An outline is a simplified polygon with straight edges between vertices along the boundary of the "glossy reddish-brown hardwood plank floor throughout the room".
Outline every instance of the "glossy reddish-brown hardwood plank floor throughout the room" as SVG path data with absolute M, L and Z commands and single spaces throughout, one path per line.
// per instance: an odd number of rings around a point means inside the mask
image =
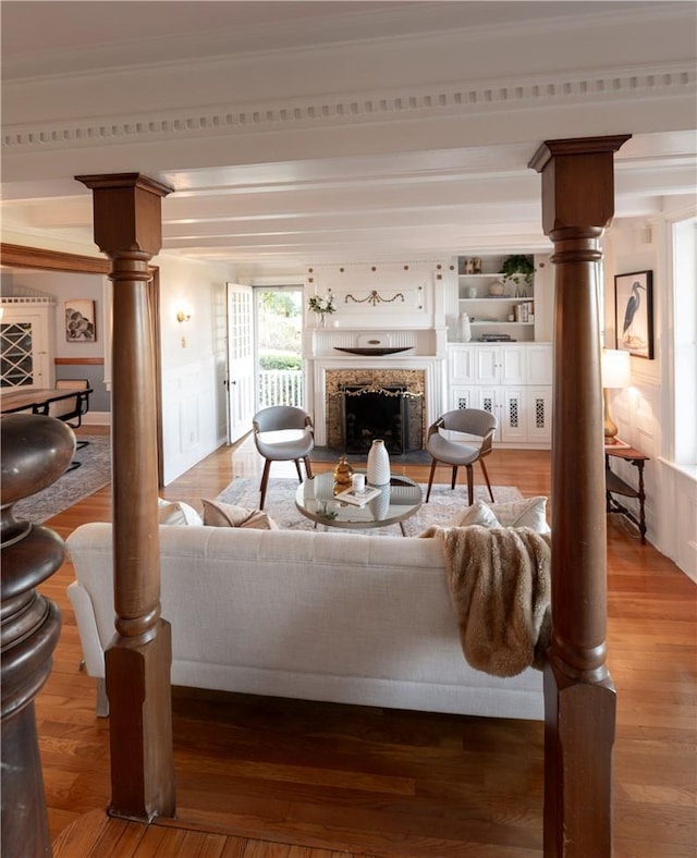
M 90 427 L 89 431 L 94 428 Z M 317 463 L 317 471 L 332 463 Z M 497 450 L 492 483 L 549 494 L 549 455 Z M 427 466 L 405 466 L 421 482 Z M 200 508 L 233 476 L 260 475 L 247 441 L 222 448 L 162 494 Z M 276 464 L 271 478 L 293 476 Z M 480 476 L 477 475 L 479 479 Z M 439 471 L 437 479 L 447 481 Z M 103 489 L 49 524 L 68 536 L 110 519 Z M 609 664 L 617 688 L 615 858 L 697 849 L 695 586 L 619 516 L 608 519 Z M 108 720 L 80 672 L 66 563 L 41 588 L 61 606 L 52 674 L 36 700 L 51 836 L 109 802 Z M 90 820 L 57 856 L 542 855 L 542 725 L 173 689 L 178 820 Z M 119 847 L 114 844 L 119 842 Z M 592 858 L 589 856 L 589 858 Z

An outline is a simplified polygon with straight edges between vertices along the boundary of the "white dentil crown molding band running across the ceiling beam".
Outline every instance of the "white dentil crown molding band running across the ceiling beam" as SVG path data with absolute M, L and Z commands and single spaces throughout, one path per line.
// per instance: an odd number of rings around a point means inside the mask
M 5 155 L 87 148 L 103 144 L 162 143 L 203 136 L 476 117 L 482 113 L 689 97 L 697 103 L 692 62 L 549 74 L 511 79 L 455 82 L 337 97 L 267 100 L 85 118 L 71 122 L 5 125 Z M 689 117 L 686 118 L 689 122 Z

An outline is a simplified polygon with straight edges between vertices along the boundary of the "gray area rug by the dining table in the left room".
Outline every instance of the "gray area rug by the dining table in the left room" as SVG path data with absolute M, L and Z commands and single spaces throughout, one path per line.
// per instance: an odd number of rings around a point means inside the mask
M 82 465 L 63 474 L 52 486 L 32 494 L 14 505 L 14 517 L 41 524 L 68 510 L 83 498 L 94 494 L 111 479 L 111 444 L 109 436 L 80 436 L 89 441 L 75 452 Z

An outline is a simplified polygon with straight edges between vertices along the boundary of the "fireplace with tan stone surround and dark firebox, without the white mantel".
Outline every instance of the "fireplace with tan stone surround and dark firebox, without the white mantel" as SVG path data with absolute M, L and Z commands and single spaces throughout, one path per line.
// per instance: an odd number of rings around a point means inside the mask
M 374 438 L 393 455 L 423 449 L 424 371 L 327 370 L 325 395 L 330 449 L 367 454 Z

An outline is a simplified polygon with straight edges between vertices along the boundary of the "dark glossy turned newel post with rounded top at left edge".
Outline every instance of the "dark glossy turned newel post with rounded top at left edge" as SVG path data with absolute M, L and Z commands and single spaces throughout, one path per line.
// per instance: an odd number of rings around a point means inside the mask
M 15 520 L 14 504 L 48 488 L 75 453 L 73 430 L 52 417 L 10 414 L 0 420 L 2 445 L 2 854 L 51 855 L 34 699 L 51 672 L 61 630 L 57 605 L 36 591 L 63 562 L 52 530 Z

